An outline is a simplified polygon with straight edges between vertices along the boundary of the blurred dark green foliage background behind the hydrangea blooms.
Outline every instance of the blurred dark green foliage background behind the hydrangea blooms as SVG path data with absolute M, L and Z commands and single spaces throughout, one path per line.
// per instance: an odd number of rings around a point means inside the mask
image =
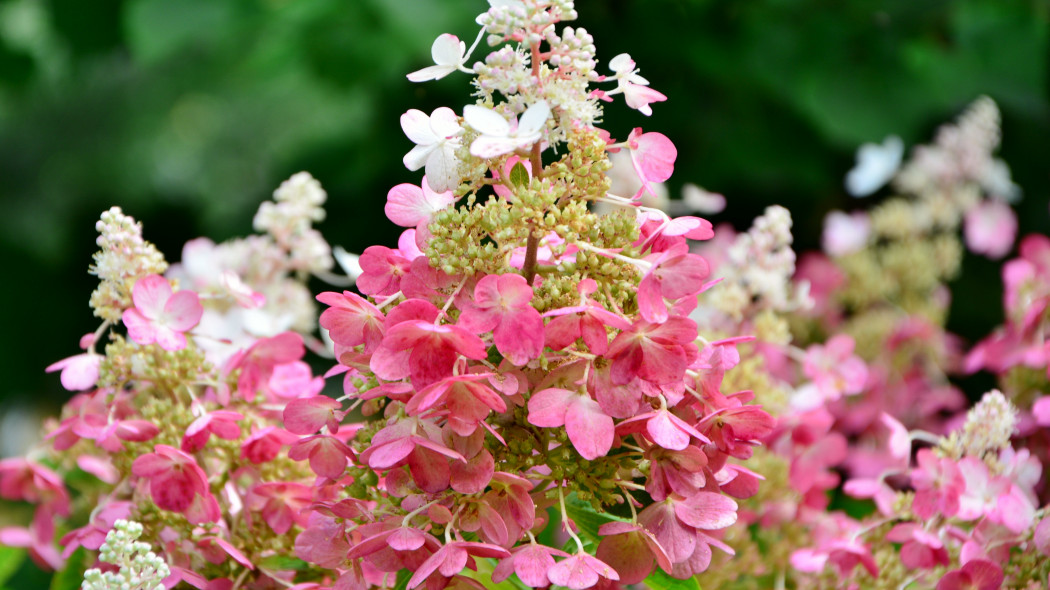
M 861 204 L 842 178 L 863 142 L 928 141 L 974 98 L 995 99 L 1002 155 L 1024 188 L 1024 231 L 1050 226 L 1045 0 L 581 0 L 598 58 L 629 51 L 666 93 L 646 119 L 607 107 L 614 136 L 644 126 L 738 228 L 772 203 L 818 244 L 828 209 Z M 418 182 L 401 156 L 408 108 L 468 100 L 467 77 L 422 85 L 441 33 L 472 40 L 483 0 L 0 0 L 0 415 L 67 398 L 50 362 L 97 322 L 93 222 L 111 205 L 169 259 L 198 235 L 251 231 L 258 203 L 309 170 L 321 226 L 360 252 L 392 244 L 386 191 Z M 482 54 L 476 54 L 481 58 Z M 972 260 L 953 319 L 999 320 L 996 267 Z M 971 291 L 972 289 L 972 291 Z M 960 319 L 961 318 L 961 319 Z M 4 422 L 7 428 L 12 421 Z M 9 431 L 8 431 L 9 435 Z M 9 438 L 9 437 L 8 437 Z

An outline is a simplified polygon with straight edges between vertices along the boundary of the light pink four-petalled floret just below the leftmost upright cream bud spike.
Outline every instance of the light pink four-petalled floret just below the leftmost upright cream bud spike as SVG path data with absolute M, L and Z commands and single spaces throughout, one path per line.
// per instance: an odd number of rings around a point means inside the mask
M 156 342 L 166 351 L 186 347 L 185 332 L 201 321 L 204 308 L 192 291 L 171 292 L 168 279 L 147 275 L 131 288 L 134 308 L 124 310 L 124 325 L 128 338 L 139 344 Z

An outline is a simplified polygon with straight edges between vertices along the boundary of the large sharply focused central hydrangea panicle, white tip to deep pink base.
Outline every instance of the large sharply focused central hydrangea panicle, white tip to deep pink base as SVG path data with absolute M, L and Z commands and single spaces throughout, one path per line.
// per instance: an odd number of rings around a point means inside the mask
M 633 584 L 657 565 L 689 577 L 727 549 L 715 531 L 757 486 L 739 461 L 772 427 L 719 391 L 708 374 L 727 366 L 705 359 L 732 343 L 705 342 L 688 317 L 709 287 L 688 240 L 711 225 L 639 204 L 673 170 L 670 140 L 593 125 L 598 100 L 624 93 L 643 112 L 663 100 L 630 58 L 597 75 L 586 31 L 556 30 L 570 2 L 492 4 L 479 23 L 499 48 L 475 66 L 478 103 L 402 117 L 405 165 L 426 175 L 387 195 L 408 228 L 398 248 L 362 253 L 363 296 L 318 296 L 343 396 L 295 400 L 285 424 L 324 485 L 378 485 L 315 499 L 297 554 L 331 567 L 339 539 L 340 583 L 357 586 L 402 568 L 408 588 L 458 584 L 478 557 L 497 561 L 495 582 L 531 587 Z M 410 79 L 459 69 L 463 45 L 440 37 L 437 65 Z M 633 194 L 610 192 L 617 151 Z M 595 215 L 598 202 L 617 210 Z M 356 408 L 380 419 L 343 445 Z M 608 522 L 586 530 L 582 513 Z

